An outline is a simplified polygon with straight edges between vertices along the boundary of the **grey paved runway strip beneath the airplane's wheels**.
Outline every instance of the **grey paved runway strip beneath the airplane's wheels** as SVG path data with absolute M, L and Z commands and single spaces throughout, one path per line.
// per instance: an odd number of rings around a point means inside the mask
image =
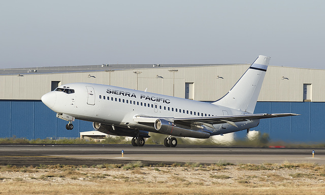
M 121 151 L 124 151 L 123 157 Z M 315 151 L 312 157 L 312 150 Z M 262 164 L 284 161 L 325 164 L 325 149 L 230 148 L 211 146 L 163 145 L 0 145 L 0 165 L 30 166 L 40 164 L 125 164 L 141 160 L 144 164 L 228 162 Z

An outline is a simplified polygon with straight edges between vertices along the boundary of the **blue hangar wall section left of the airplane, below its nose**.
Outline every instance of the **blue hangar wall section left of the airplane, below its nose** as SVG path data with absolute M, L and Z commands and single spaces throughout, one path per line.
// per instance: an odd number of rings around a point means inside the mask
M 67 121 L 56 118 L 41 101 L 0 101 L 0 117 L 1 138 L 78 138 L 80 132 L 93 129 L 91 122 L 75 120 L 68 131 Z

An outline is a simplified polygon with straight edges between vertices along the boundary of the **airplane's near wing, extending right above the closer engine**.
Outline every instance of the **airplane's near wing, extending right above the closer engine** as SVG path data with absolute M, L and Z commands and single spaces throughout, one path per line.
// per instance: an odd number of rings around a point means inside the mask
M 245 115 L 228 115 L 228 116 L 205 116 L 205 117 L 168 117 L 168 118 L 157 118 L 153 116 L 141 116 L 137 115 L 133 119 L 136 122 L 155 122 L 157 119 L 165 119 L 170 122 L 182 122 L 182 123 L 207 123 L 207 124 L 220 124 L 229 123 L 234 125 L 235 122 L 253 120 L 253 119 L 263 119 L 263 118 L 275 118 L 284 116 L 297 116 L 300 114 L 293 113 L 281 113 L 281 114 L 245 114 Z M 236 126 L 236 125 L 234 125 Z

